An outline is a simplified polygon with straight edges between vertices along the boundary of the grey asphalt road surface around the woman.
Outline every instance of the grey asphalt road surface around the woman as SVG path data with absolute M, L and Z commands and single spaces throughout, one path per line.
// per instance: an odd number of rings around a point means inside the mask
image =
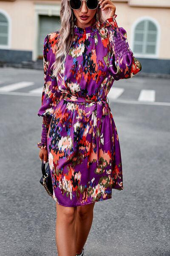
M 0 256 L 57 256 L 55 201 L 40 185 L 41 70 L 0 69 Z M 114 83 L 109 103 L 122 152 L 124 190 L 96 202 L 85 256 L 170 256 L 170 80 Z M 14 87 L 13 87 L 14 89 Z M 140 102 L 141 90 L 155 100 Z M 162 104 L 160 103 L 162 102 Z M 165 103 L 164 103 L 165 102 Z

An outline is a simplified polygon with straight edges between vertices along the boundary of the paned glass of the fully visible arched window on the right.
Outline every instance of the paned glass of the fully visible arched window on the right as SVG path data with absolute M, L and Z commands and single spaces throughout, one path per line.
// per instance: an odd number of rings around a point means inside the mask
M 133 51 L 140 55 L 156 55 L 158 29 L 149 19 L 139 21 L 134 29 Z

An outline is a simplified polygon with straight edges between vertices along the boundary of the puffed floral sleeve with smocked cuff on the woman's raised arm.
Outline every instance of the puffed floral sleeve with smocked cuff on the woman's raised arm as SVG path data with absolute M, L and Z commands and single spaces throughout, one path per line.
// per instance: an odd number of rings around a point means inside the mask
M 142 65 L 133 56 L 133 52 L 127 41 L 127 32 L 124 28 L 118 27 L 114 17 L 108 18 L 105 21 L 105 26 L 108 28 L 108 36 L 112 49 L 108 66 L 109 72 L 114 80 L 133 77 L 142 70 Z

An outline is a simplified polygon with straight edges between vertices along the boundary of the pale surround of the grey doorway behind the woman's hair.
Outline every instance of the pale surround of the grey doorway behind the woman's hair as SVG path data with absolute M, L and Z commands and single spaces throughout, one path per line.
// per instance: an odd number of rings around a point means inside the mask
M 34 29 L 34 49 L 32 60 L 36 61 L 38 56 L 38 35 L 39 35 L 39 15 L 48 15 L 48 16 L 60 16 L 61 4 L 35 4 L 34 6 L 34 19 L 35 19 L 35 29 Z

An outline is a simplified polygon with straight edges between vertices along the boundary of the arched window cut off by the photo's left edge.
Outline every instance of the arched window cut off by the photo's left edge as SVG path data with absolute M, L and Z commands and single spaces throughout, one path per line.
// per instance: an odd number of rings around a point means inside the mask
M 0 13 L 0 45 L 8 45 L 8 19 Z

